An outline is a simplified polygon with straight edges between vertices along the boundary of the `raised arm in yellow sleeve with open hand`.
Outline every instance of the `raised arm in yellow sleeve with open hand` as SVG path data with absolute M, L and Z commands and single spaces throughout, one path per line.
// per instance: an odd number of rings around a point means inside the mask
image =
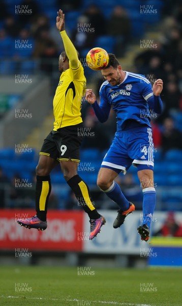
M 56 27 L 57 30 L 59 30 L 60 35 L 62 36 L 66 55 L 70 61 L 71 68 L 73 69 L 78 68 L 79 61 L 78 61 L 77 50 L 65 31 L 65 14 L 63 14 L 62 10 L 59 10 L 57 12 Z

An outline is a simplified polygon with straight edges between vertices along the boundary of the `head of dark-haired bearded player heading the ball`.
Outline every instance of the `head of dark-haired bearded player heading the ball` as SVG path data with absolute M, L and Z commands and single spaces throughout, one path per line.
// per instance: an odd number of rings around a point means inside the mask
M 109 53 L 109 63 L 101 72 L 111 86 L 121 83 L 125 78 L 125 72 L 122 70 L 122 66 L 120 66 L 115 55 L 112 53 Z

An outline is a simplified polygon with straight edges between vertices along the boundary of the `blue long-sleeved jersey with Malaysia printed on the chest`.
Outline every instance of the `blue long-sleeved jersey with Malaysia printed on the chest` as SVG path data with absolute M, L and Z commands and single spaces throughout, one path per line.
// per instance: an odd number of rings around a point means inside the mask
M 150 82 L 141 74 L 126 72 L 122 83 L 111 86 L 105 81 L 100 88 L 100 105 L 93 104 L 96 116 L 105 122 L 111 107 L 116 112 L 117 131 L 147 125 L 150 114 L 162 112 L 162 101 L 155 96 Z

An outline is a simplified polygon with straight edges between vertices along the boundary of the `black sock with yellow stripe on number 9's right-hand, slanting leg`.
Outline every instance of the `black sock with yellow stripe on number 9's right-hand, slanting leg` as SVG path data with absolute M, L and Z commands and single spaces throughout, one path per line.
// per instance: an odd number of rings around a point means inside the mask
M 93 205 L 92 198 L 90 196 L 89 188 L 81 177 L 77 174 L 73 176 L 68 182 L 68 185 L 75 193 L 78 202 L 83 207 L 85 213 L 88 214 L 90 219 L 98 219 L 100 214 L 97 212 Z

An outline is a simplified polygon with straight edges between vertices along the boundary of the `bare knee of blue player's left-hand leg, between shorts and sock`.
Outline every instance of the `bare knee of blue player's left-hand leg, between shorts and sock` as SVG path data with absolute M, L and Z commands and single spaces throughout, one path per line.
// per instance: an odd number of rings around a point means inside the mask
M 102 185 L 111 184 L 117 175 L 118 173 L 113 169 L 102 167 L 98 173 L 97 185 L 101 187 Z

